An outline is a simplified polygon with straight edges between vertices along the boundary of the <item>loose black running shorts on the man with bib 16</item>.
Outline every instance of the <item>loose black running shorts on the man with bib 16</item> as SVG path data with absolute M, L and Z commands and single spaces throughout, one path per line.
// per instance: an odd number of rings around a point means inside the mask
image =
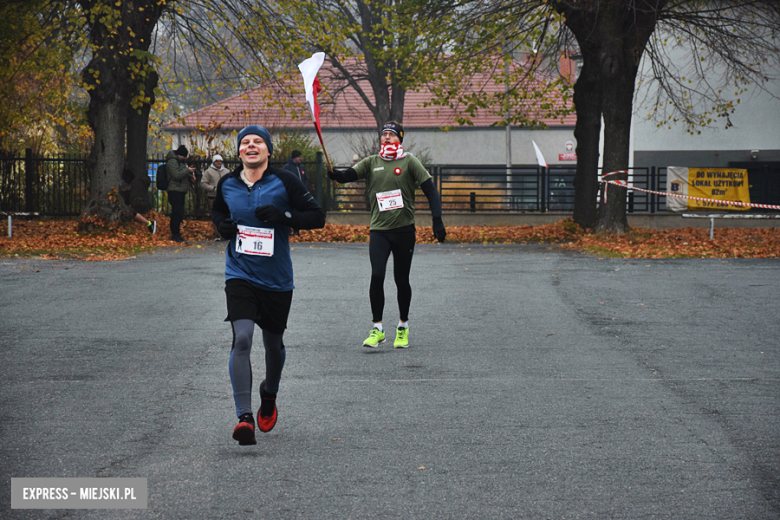
M 252 320 L 268 332 L 283 334 L 292 305 L 292 291 L 268 291 L 247 280 L 225 282 L 228 316 L 225 321 Z

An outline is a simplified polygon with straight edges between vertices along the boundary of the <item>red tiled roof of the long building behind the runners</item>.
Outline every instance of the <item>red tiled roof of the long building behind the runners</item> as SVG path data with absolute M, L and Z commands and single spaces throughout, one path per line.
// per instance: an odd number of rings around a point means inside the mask
M 515 67 L 519 67 L 514 62 Z M 320 70 L 320 81 L 323 87 L 328 89 L 329 82 L 327 63 Z M 503 75 L 498 73 L 497 77 Z M 296 78 L 298 80 L 298 78 Z M 335 81 L 333 82 L 335 84 Z M 541 85 L 536 83 L 536 85 Z M 470 92 L 484 91 L 487 93 L 499 93 L 504 91 L 502 83 L 496 83 L 488 74 L 472 77 Z M 373 93 L 367 81 L 361 82 L 361 87 L 366 95 L 374 101 Z M 303 85 L 293 85 L 293 88 L 303 90 Z M 335 89 L 334 89 L 335 90 Z M 407 91 L 404 103 L 403 124 L 409 128 L 440 128 L 460 126 L 457 117 L 464 113 L 459 107 L 423 106 L 430 101 L 432 94 L 429 89 L 423 87 L 418 91 Z M 556 106 L 563 106 L 560 98 L 553 99 L 543 96 L 542 100 L 552 100 Z M 322 112 L 320 122 L 323 130 L 334 129 L 375 129 L 376 122 L 371 111 L 358 92 L 346 86 L 341 92 L 332 98 L 327 92 L 320 94 L 319 100 Z M 539 101 L 525 101 L 528 112 L 533 113 Z M 537 105 L 535 105 L 535 103 Z M 282 108 L 287 105 L 287 108 Z M 571 107 L 571 99 L 566 101 Z M 539 114 L 541 112 L 537 112 Z M 492 126 L 499 121 L 500 116 L 491 113 L 489 109 L 478 110 L 471 117 L 474 127 Z M 576 115 L 571 114 L 557 119 L 540 117 L 547 126 L 573 126 Z M 172 121 L 163 125 L 169 131 L 192 130 L 196 128 L 221 128 L 222 130 L 241 129 L 249 124 L 263 124 L 271 129 L 312 127 L 311 116 L 305 108 L 305 100 L 302 92 L 290 96 L 279 85 L 266 84 L 251 88 L 241 94 L 226 98 L 222 101 L 191 112 L 183 117 L 182 121 Z

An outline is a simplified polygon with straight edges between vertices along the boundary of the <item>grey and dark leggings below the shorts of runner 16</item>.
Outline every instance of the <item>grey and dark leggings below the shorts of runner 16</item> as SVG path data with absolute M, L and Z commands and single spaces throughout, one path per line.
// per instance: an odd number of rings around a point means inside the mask
M 252 336 L 255 322 L 252 320 L 236 320 L 233 326 L 233 348 L 230 350 L 228 370 L 230 383 L 233 385 L 233 400 L 236 403 L 236 415 L 252 413 L 252 363 L 249 354 L 252 351 Z M 279 381 L 282 379 L 282 368 L 287 352 L 282 342 L 282 334 L 274 334 L 263 329 L 263 345 L 265 346 L 265 390 L 270 394 L 279 391 Z

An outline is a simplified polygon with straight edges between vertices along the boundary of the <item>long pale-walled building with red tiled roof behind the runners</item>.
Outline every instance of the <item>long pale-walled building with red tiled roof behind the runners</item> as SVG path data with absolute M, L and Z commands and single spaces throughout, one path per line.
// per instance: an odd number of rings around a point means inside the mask
M 483 83 L 486 90 L 498 90 L 487 77 L 475 83 Z M 366 89 L 370 92 L 370 89 Z M 232 140 L 237 132 L 246 125 L 259 124 L 267 127 L 272 134 L 290 131 L 309 133 L 317 142 L 311 116 L 304 108 L 304 96 L 291 99 L 285 94 L 273 94 L 268 99 L 269 90 L 256 87 L 223 101 L 209 105 L 186 115 L 183 123 L 174 121 L 163 126 L 172 134 L 173 147 L 185 144 L 191 149 L 203 149 L 209 153 L 220 152 L 223 155 L 235 154 Z M 480 111 L 473 118 L 473 126 L 458 126 L 457 109 L 444 107 L 424 107 L 431 98 L 430 92 L 407 92 L 404 107 L 406 131 L 404 145 L 413 153 L 425 152 L 432 164 L 466 165 L 505 165 L 507 159 L 507 132 L 505 126 L 492 126 L 498 116 Z M 279 100 L 286 101 L 291 108 L 282 109 Z M 321 101 L 320 116 L 325 148 L 334 164 L 349 165 L 354 156 L 365 155 L 365 149 L 371 149 L 366 143 L 374 143 L 377 153 L 379 137 L 376 122 L 357 92 L 346 89 L 335 99 Z M 559 103 L 563 105 L 562 102 Z M 569 101 L 568 106 L 571 107 Z M 536 108 L 529 103 L 527 110 L 533 113 Z M 536 141 L 549 164 L 576 164 L 574 152 L 574 123 L 572 113 L 559 119 L 539 118 L 546 129 L 531 130 L 513 126 L 510 129 L 512 164 L 536 164 L 531 141 Z M 206 137 L 205 129 L 211 128 Z M 449 131 L 442 128 L 451 128 Z M 216 138 L 214 138 L 216 137 Z M 283 158 L 279 158 L 283 159 Z

